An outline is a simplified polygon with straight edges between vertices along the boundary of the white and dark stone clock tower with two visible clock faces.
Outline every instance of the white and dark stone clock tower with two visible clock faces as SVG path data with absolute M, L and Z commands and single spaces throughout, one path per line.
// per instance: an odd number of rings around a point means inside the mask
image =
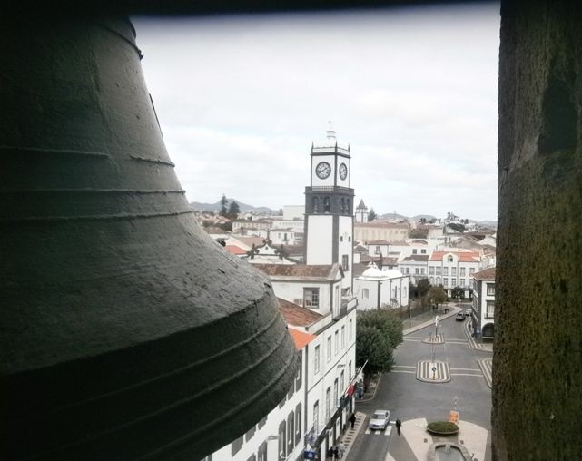
M 353 199 L 350 146 L 328 130 L 324 142 L 311 145 L 311 185 L 305 188 L 305 262 L 338 262 L 343 289 L 351 291 Z

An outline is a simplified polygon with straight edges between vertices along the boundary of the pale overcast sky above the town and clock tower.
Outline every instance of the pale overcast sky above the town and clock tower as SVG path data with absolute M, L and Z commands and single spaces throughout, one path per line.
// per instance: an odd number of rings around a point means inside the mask
M 498 4 L 133 24 L 189 201 L 303 204 L 331 121 L 356 203 L 497 219 Z

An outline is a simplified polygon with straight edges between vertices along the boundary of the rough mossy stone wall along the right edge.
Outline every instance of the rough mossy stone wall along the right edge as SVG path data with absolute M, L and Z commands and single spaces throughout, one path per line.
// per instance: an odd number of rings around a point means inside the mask
M 502 2 L 493 459 L 580 459 L 582 14 Z

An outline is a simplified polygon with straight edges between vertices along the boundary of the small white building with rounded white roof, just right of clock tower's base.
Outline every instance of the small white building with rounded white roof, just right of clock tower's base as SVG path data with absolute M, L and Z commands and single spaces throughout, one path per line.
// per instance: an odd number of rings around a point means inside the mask
M 409 303 L 409 276 L 399 270 L 379 270 L 375 265 L 354 279 L 358 309 L 398 308 Z

